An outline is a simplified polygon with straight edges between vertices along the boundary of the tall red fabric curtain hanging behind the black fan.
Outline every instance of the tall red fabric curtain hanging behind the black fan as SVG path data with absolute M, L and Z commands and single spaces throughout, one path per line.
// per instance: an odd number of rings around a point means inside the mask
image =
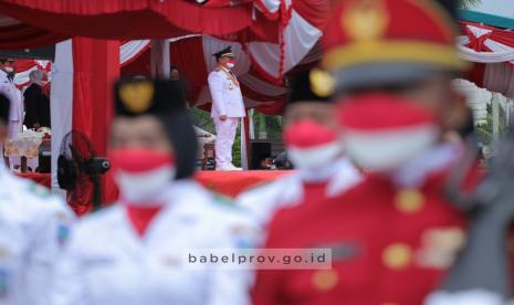
M 105 156 L 113 117 L 114 81 L 119 77 L 119 42 L 78 38 L 73 40 L 73 129 L 91 139 Z M 116 198 L 109 176 L 102 183 L 104 202 Z M 87 209 L 77 211 L 82 214 Z

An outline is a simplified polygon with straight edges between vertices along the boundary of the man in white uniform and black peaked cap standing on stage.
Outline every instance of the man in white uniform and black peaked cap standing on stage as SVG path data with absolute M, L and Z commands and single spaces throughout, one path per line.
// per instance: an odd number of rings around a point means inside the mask
M 232 145 L 238 122 L 244 117 L 244 103 L 238 77 L 232 72 L 235 65 L 230 46 L 214 53 L 218 66 L 209 74 L 212 97 L 211 117 L 216 126 L 216 169 L 241 170 L 232 164 Z

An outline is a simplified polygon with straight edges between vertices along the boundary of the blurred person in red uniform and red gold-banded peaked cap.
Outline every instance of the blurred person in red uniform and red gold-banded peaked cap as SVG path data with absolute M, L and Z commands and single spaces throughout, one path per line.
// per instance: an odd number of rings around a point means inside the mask
M 266 248 L 329 248 L 333 269 L 262 271 L 254 304 L 413 305 L 438 288 L 466 223 L 443 192 L 464 152 L 442 140 L 462 128 L 450 119 L 461 109 L 451 80 L 466 66 L 454 12 L 447 0 L 340 1 L 323 65 L 345 151 L 369 176 L 276 215 Z

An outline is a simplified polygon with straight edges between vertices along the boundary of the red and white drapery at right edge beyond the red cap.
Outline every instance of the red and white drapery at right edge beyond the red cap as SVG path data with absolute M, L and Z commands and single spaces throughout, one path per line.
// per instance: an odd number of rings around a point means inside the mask
M 475 63 L 469 78 L 478 86 L 514 98 L 514 32 L 464 22 L 458 48 Z

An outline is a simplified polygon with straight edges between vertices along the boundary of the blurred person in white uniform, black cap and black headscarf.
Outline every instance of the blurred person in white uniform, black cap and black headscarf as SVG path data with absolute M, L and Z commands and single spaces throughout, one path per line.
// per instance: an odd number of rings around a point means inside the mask
M 238 240 L 218 199 L 192 180 L 197 141 L 180 82 L 122 81 L 115 95 L 108 154 L 119 200 L 72 231 L 53 304 L 246 304 L 244 274 L 182 261 Z

